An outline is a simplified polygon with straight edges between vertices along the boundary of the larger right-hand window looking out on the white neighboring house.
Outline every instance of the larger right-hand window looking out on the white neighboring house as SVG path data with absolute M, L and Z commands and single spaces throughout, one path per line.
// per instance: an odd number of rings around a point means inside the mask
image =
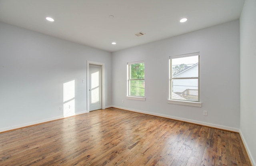
M 199 52 L 170 56 L 170 100 L 200 101 L 199 57 Z

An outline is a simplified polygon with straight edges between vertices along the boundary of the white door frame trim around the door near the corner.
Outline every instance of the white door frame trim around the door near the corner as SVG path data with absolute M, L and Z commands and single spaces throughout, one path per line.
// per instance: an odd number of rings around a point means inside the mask
M 99 65 L 101 66 L 101 109 L 105 109 L 105 106 L 104 106 L 104 103 L 105 103 L 105 100 L 104 100 L 104 83 L 105 83 L 105 63 L 101 63 L 101 62 L 95 62 L 95 61 L 87 61 L 87 75 L 86 75 L 86 83 L 87 83 L 87 89 L 86 89 L 86 94 L 87 94 L 87 111 L 90 112 L 90 93 L 89 93 L 89 81 L 90 81 L 90 78 L 89 78 L 89 70 L 90 70 L 90 65 Z

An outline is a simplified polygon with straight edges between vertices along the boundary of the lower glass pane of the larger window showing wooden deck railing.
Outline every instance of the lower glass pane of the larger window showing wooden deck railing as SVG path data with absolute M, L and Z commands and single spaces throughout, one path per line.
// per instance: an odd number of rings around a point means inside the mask
M 198 101 L 198 79 L 173 79 L 171 99 Z

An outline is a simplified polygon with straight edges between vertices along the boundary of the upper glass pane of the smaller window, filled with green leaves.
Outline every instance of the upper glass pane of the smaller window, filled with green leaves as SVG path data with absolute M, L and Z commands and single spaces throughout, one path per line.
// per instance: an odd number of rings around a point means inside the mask
M 130 79 L 144 79 L 144 63 L 130 64 Z

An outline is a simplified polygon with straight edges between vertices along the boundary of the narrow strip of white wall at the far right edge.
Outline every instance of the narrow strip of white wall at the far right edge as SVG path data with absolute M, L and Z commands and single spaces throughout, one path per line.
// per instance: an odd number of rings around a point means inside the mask
M 256 166 L 256 0 L 246 0 L 240 16 L 240 130 Z

